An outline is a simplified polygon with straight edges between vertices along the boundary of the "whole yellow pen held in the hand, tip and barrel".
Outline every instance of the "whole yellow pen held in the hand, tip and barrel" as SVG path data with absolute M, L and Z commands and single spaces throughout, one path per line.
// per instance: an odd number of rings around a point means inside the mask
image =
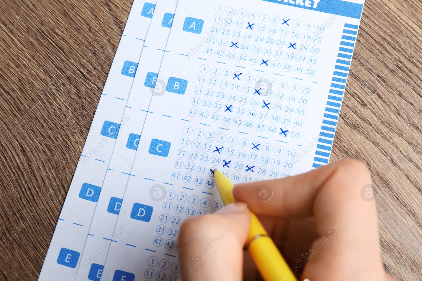
M 216 169 L 214 170 L 214 178 L 223 204 L 227 205 L 235 202 L 233 183 Z M 268 236 L 257 216 L 252 212 L 246 247 L 265 281 L 298 281 L 281 256 L 276 244 Z

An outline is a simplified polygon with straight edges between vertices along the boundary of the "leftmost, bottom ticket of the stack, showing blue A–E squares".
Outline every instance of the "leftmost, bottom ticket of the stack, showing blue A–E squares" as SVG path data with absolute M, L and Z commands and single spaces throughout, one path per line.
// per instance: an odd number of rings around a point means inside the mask
M 135 1 L 38 280 L 72 280 L 119 133 L 154 1 Z M 98 38 L 98 40 L 102 40 Z M 124 120 L 124 119 L 123 119 Z M 120 126 L 122 127 L 122 126 Z

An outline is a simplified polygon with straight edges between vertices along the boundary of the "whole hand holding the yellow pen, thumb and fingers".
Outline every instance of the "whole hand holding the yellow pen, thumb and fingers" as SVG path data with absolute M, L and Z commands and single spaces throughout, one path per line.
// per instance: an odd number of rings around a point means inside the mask
M 250 209 L 298 280 L 395 281 L 382 266 L 375 201 L 361 197 L 371 183 L 364 164 L 344 159 L 293 177 L 236 185 L 238 202 L 182 224 L 181 280 L 262 280 L 243 249 Z M 265 202 L 255 195 L 262 185 L 272 191 Z

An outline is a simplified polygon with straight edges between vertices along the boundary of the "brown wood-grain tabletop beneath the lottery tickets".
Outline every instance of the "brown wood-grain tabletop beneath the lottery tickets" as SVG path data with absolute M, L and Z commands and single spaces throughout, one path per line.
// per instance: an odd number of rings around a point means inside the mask
M 38 278 L 132 5 L 32 1 L 0 0 L 1 280 Z M 420 1 L 366 1 L 331 156 L 368 165 L 379 190 L 384 267 L 415 281 L 422 279 L 421 19 Z

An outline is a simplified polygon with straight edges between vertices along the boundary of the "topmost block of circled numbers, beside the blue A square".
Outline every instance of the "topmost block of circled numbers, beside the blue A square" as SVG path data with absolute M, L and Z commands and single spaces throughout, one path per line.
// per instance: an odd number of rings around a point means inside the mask
M 222 5 L 217 5 L 216 10 L 224 11 L 223 8 Z M 249 64 L 260 67 L 272 67 L 274 70 L 294 71 L 298 75 L 314 75 L 315 70 L 312 66 L 317 64 L 317 54 L 320 52 L 319 45 L 315 44 L 322 42 L 320 35 L 324 29 L 322 24 L 318 24 L 316 28 L 319 31 L 311 35 L 309 32 L 288 29 L 292 26 L 311 30 L 313 28 L 311 22 L 303 24 L 298 19 L 281 19 L 277 15 L 270 17 L 268 14 L 262 13 L 259 16 L 260 21 L 269 21 L 267 24 L 285 26 L 271 25 L 267 27 L 263 22 L 255 23 L 241 18 L 234 19 L 229 9 L 234 9 L 234 7 L 227 8 L 226 17 L 223 17 L 222 14 L 213 17 L 213 21 L 217 25 L 210 28 L 213 35 L 208 37 L 208 46 L 204 49 L 206 55 L 215 55 L 217 58 L 225 57 L 229 60 L 235 59 L 241 64 L 249 62 Z M 246 15 L 246 11 L 243 13 Z M 252 11 L 249 14 L 250 18 L 256 19 L 258 13 Z M 299 42 L 300 40 L 302 42 Z

